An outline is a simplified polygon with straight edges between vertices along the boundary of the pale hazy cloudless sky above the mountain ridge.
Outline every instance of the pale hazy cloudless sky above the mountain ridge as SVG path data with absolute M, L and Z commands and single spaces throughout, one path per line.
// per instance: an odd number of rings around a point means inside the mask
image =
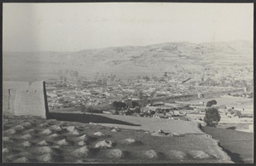
M 3 3 L 3 51 L 253 42 L 253 3 Z

